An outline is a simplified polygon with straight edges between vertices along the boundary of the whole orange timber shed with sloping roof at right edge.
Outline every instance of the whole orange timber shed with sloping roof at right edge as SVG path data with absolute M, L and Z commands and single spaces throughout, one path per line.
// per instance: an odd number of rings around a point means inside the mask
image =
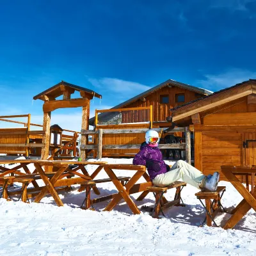
M 220 172 L 221 165 L 256 164 L 256 80 L 174 108 L 172 122 L 190 125 L 195 167 L 206 175 Z

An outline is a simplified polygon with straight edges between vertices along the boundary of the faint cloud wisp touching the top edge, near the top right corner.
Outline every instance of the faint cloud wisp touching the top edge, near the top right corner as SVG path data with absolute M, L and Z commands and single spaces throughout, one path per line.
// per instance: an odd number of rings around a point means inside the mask
M 248 11 L 248 3 L 255 2 L 255 0 L 214 0 L 211 8 L 226 8 L 232 12 L 234 11 Z

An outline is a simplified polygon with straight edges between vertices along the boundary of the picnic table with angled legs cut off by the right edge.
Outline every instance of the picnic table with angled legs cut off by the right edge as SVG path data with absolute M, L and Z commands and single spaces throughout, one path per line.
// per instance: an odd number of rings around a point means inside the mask
M 221 166 L 221 172 L 228 181 L 237 189 L 237 191 L 243 196 L 243 200 L 237 205 L 237 207 L 231 212 L 232 217 L 225 223 L 224 229 L 233 228 L 243 216 L 253 208 L 256 211 L 256 186 L 254 186 L 254 175 L 256 173 L 256 166 Z M 246 176 L 246 188 L 241 181 L 237 179 L 236 175 Z M 248 177 L 251 176 L 252 191 L 250 193 Z

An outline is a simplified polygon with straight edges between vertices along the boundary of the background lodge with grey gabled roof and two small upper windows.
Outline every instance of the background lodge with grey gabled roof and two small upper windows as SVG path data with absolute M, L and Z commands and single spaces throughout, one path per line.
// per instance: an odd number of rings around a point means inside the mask
M 211 93 L 212 92 L 202 88 L 168 79 L 164 83 L 158 84 L 157 86 L 154 86 L 153 88 L 118 104 L 112 109 L 142 108 L 149 107 L 151 105 L 153 110 L 153 126 L 169 127 L 170 123 L 166 122 L 166 117 L 172 114 L 170 109 L 182 106 L 191 100 L 201 99 Z M 98 116 L 97 124 L 95 124 L 95 117 L 90 118 L 89 124 L 92 126 L 100 125 L 100 120 L 108 123 L 108 120 L 112 117 L 113 115 L 110 113 L 105 115 L 102 113 Z M 148 121 L 149 115 L 147 111 L 145 111 L 145 113 L 141 111 L 141 115 L 136 115 L 136 113 L 132 115 L 132 113 L 127 111 L 126 115 L 122 116 L 122 124 Z

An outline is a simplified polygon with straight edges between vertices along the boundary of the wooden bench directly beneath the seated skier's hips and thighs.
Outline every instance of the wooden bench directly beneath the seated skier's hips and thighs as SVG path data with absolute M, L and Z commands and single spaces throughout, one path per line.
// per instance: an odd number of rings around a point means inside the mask
M 170 208 L 173 205 L 175 206 L 186 206 L 183 204 L 182 198 L 180 196 L 180 193 L 182 191 L 182 189 L 184 188 L 184 186 L 186 186 L 186 182 L 183 181 L 175 181 L 172 184 L 170 184 L 170 186 L 166 186 L 166 187 L 157 187 L 157 186 L 150 186 L 147 187 L 149 192 L 154 193 L 154 196 L 156 198 L 156 203 L 154 205 L 154 208 L 152 207 L 143 207 L 144 209 L 152 212 L 152 217 L 153 218 L 158 218 L 160 211 L 162 212 L 163 216 L 164 216 L 164 209 Z M 174 200 L 168 202 L 164 197 L 164 193 L 167 192 L 168 189 L 172 189 L 172 188 L 176 188 L 176 192 L 175 192 L 175 196 L 174 196 Z M 182 202 L 182 204 L 180 204 L 180 201 Z

